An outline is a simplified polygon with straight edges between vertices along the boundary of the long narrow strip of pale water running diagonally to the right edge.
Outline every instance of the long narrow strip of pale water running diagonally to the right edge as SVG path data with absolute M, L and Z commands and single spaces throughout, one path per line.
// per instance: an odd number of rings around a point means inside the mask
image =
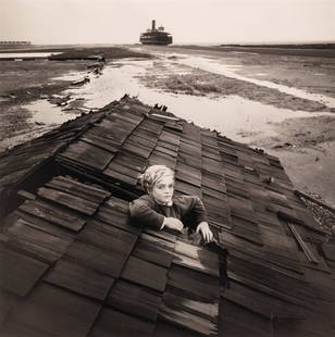
M 283 85 L 277 85 L 269 80 L 263 80 L 263 79 L 256 79 L 256 78 L 249 78 L 239 74 L 235 73 L 235 70 L 238 70 L 240 66 L 232 67 L 232 65 L 226 65 L 223 63 L 218 62 L 218 60 L 212 60 L 208 58 L 201 58 L 201 57 L 189 57 L 189 58 L 184 58 L 182 60 L 177 60 L 176 62 L 186 64 L 188 66 L 193 67 L 199 67 L 203 71 L 211 72 L 214 74 L 220 74 L 224 75 L 226 77 L 252 83 L 255 85 L 261 86 L 261 87 L 266 87 L 271 89 L 277 89 L 281 92 L 291 95 L 298 98 L 302 99 L 308 99 L 311 101 L 315 101 L 319 103 L 322 103 L 328 108 L 335 108 L 335 98 L 327 97 L 324 95 L 319 95 L 319 93 L 310 93 L 301 89 L 297 88 L 291 88 Z

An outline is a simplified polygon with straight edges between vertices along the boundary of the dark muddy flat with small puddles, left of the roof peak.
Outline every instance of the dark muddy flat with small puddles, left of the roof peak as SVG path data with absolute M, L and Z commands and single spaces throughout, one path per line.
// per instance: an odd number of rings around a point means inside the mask
M 28 61 L 3 61 L 1 55 L 42 55 L 53 53 L 57 60 L 46 58 Z M 57 125 L 85 112 L 78 101 L 69 107 L 64 90 L 76 79 L 85 78 L 96 68 L 97 55 L 110 64 L 122 58 L 148 55 L 120 47 L 97 46 L 32 46 L 22 50 L 0 51 L 0 152 L 5 148 L 37 137 Z M 92 60 L 89 58 L 92 57 Z M 92 74 L 96 76 L 97 74 Z M 69 97 L 69 101 L 70 101 Z M 48 104 L 51 100 L 54 104 Z M 67 108 L 67 109 L 66 109 Z M 70 109 L 69 109 L 70 108 Z M 37 111 L 44 113 L 37 114 Z

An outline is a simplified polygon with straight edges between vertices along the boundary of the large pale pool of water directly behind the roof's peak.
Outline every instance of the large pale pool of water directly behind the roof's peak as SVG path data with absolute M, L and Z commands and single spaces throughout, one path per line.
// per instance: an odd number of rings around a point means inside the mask
M 84 97 L 86 107 L 102 108 L 112 100 L 119 100 L 124 93 L 136 96 L 142 102 L 154 105 L 165 104 L 169 111 L 181 118 L 216 129 L 223 135 L 239 141 L 249 141 L 249 134 L 265 133 L 273 135 L 270 122 L 282 122 L 289 117 L 321 115 L 303 111 L 291 111 L 246 100 L 238 96 L 220 99 L 189 95 L 174 95 L 158 89 L 146 88 L 139 84 L 138 76 L 152 68 L 154 61 L 122 62 L 121 67 L 106 66 L 103 74 L 91 78 L 90 83 L 70 89 L 74 97 Z M 332 115 L 332 114 L 331 114 Z M 248 132 L 246 134 L 245 132 Z

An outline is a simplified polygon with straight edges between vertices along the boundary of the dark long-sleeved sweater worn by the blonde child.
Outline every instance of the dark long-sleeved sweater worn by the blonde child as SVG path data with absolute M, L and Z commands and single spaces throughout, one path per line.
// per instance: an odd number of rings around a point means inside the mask
M 156 229 L 162 227 L 164 216 L 176 217 L 191 228 L 208 221 L 200 198 L 194 196 L 175 197 L 172 205 L 161 205 L 151 196 L 145 195 L 129 203 L 129 213 L 135 224 Z

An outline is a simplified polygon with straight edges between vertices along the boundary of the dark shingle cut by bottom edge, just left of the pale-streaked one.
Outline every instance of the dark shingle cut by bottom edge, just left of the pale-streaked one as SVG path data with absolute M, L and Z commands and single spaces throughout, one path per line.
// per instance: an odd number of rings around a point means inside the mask
M 154 324 L 116 310 L 103 309 L 91 335 L 95 337 L 148 337 L 152 336 Z

